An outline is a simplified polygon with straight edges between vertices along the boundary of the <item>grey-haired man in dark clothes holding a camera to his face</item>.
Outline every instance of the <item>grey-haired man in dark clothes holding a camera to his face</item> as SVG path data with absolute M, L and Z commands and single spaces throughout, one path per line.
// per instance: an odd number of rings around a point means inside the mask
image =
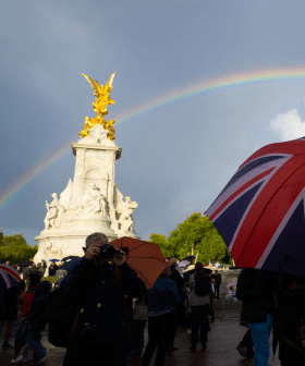
M 64 298 L 80 303 L 63 365 L 126 365 L 124 295 L 141 297 L 144 282 L 105 234 L 89 235 L 83 249 L 84 258 L 60 286 Z

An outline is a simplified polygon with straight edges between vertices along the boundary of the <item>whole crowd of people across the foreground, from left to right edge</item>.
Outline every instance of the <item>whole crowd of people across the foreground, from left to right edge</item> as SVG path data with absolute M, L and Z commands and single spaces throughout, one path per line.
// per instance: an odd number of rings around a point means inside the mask
M 196 352 L 198 344 L 200 351 L 208 350 L 209 321 L 215 320 L 213 298 L 219 300 L 220 273 L 202 263 L 182 273 L 175 258 L 168 258 L 168 266 L 147 289 L 126 263 L 125 252 L 112 247 L 115 254 L 110 259 L 106 255 L 109 247 L 105 234 L 89 235 L 84 257 L 68 270 L 59 288 L 52 292 L 50 282 L 41 281 L 35 264 L 20 269 L 24 276 L 20 284 L 5 290 L 3 281 L 0 281 L 0 331 L 7 326 L 2 349 L 13 347 L 9 340 L 13 321 L 17 318 L 17 304 L 22 305 L 21 320 L 28 327 L 26 346 L 12 363 L 28 361 L 29 350 L 34 364 L 40 364 L 48 356 L 40 332 L 48 321 L 48 304 L 49 310 L 57 308 L 50 298 L 68 304 L 69 316 L 61 324 L 62 328 L 56 329 L 57 325 L 49 322 L 49 342 L 53 342 L 51 335 L 56 331 L 63 337 L 61 342 L 66 347 L 64 366 L 123 366 L 132 359 L 142 359 L 142 366 L 148 366 L 156 349 L 155 365 L 162 366 L 167 353 L 179 350 L 175 333 L 176 327 L 183 322 L 190 326 L 188 350 Z M 46 271 L 44 263 L 40 268 Z M 59 270 L 56 263 L 50 268 L 50 276 Z M 274 273 L 243 269 L 236 293 L 233 286 L 229 291 L 230 297 L 243 301 L 241 325 L 248 328 L 236 349 L 243 357 L 254 356 L 253 365 L 268 365 L 274 295 L 280 302 L 284 298 L 279 294 L 276 285 L 279 277 Z M 303 278 L 286 274 L 283 274 L 283 283 L 285 291 L 305 286 Z M 285 309 L 292 306 L 291 301 L 282 304 Z M 148 343 L 145 346 L 146 327 Z M 280 327 L 277 328 L 278 335 L 281 331 Z M 292 355 L 290 346 L 280 335 L 279 339 L 281 365 L 305 365 L 305 356 L 301 353 Z

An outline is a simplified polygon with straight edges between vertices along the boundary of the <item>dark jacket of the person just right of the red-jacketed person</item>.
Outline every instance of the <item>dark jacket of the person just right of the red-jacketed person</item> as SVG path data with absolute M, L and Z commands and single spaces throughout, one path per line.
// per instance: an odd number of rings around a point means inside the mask
M 41 315 L 49 297 L 50 289 L 49 281 L 41 281 L 37 284 L 30 310 L 24 317 L 25 320 L 28 320 L 30 330 L 44 330 L 46 328 L 46 320 L 42 320 Z

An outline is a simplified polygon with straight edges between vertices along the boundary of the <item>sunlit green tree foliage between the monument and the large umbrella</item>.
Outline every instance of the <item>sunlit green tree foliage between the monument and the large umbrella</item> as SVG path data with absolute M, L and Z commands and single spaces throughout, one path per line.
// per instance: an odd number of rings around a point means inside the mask
M 192 253 L 194 244 L 194 255 L 198 252 L 197 261 L 208 264 L 211 259 L 219 260 L 222 265 L 233 264 L 231 254 L 216 227 L 200 212 L 195 212 L 184 222 L 179 223 L 168 239 L 166 235 L 154 233 L 149 241 L 159 244 L 164 257 L 182 259 Z

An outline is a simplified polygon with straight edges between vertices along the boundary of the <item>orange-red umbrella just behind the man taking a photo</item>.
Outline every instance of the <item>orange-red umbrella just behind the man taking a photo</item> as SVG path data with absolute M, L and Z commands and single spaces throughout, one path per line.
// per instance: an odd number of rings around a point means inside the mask
M 150 289 L 161 271 L 168 266 L 158 244 L 132 237 L 121 237 L 110 243 L 126 253 L 127 264 Z

